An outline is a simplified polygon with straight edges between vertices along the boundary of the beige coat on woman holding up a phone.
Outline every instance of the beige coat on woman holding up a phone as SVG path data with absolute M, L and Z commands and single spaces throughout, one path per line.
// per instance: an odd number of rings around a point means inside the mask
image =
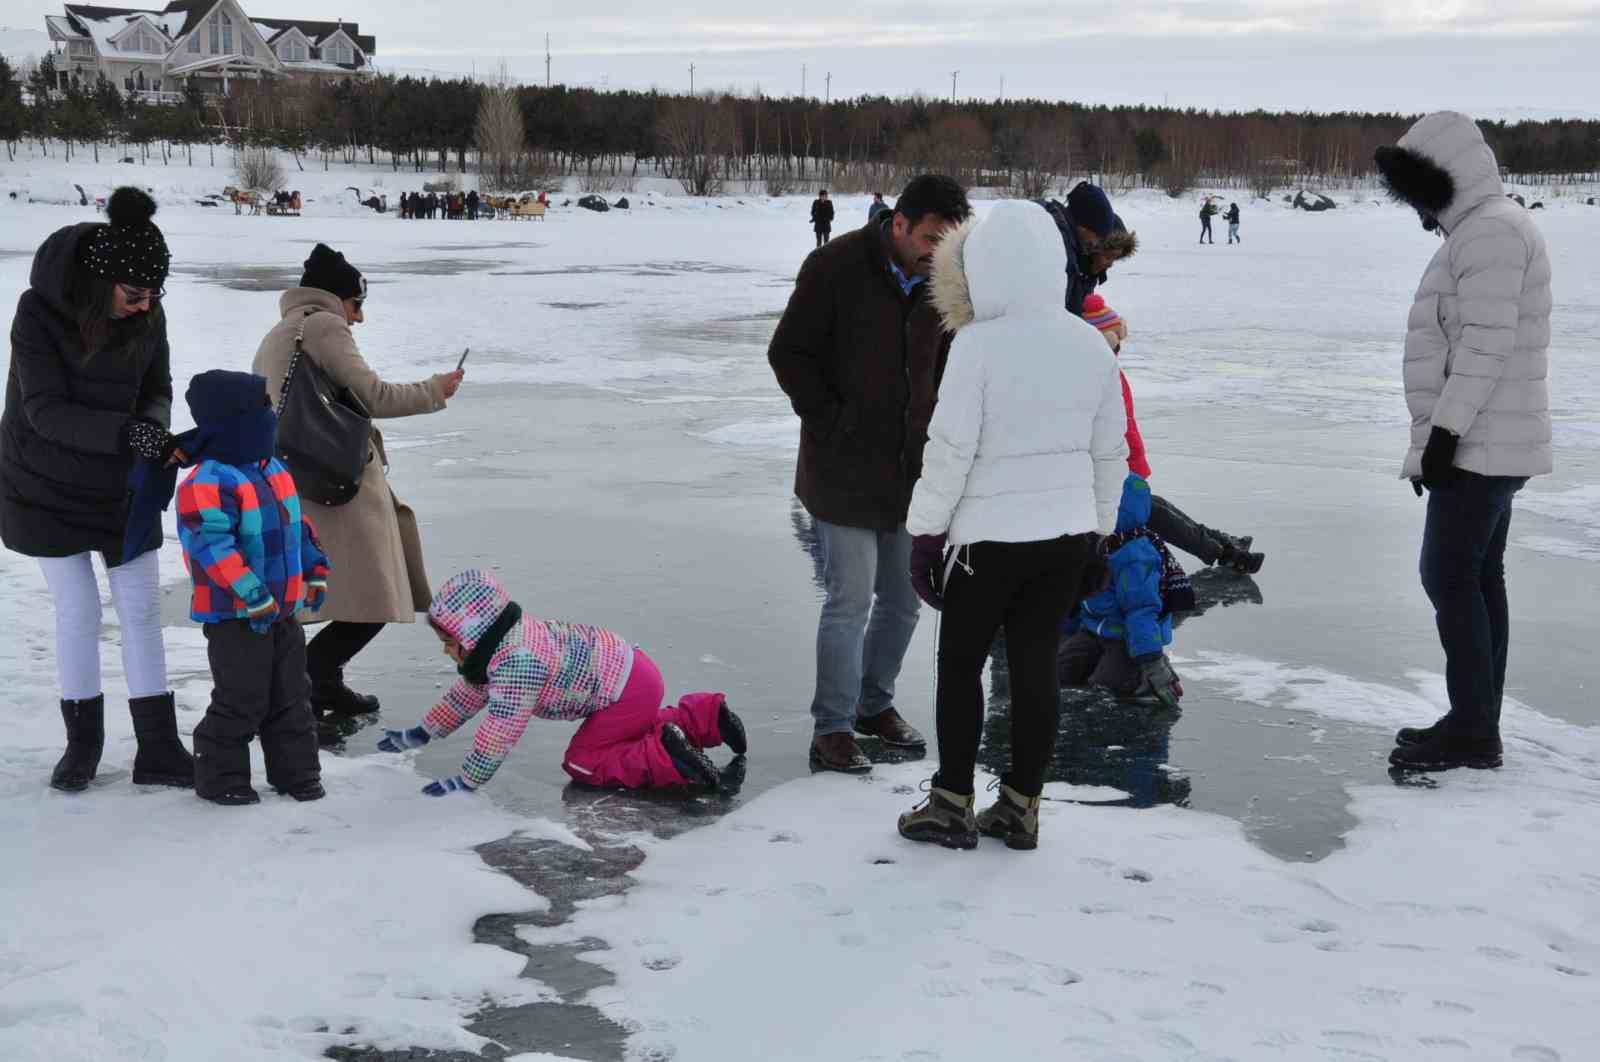
M 438 413 L 445 408 L 445 376 L 419 384 L 386 382 L 362 357 L 338 296 L 320 288 L 290 288 L 278 304 L 283 318 L 261 341 L 253 371 L 267 377 L 274 405 L 294 355 L 294 334 L 306 325 L 306 357 L 336 385 L 349 387 L 374 421 Z M 387 478 L 384 437 L 373 425 L 371 459 L 362 488 L 344 505 L 301 499 L 333 563 L 328 603 L 302 613 L 306 622 L 410 624 L 427 611 L 434 592 L 422 565 L 416 515 L 395 497 Z

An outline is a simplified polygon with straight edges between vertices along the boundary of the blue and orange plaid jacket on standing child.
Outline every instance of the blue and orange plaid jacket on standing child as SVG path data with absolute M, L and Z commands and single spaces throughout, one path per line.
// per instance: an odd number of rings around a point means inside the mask
M 328 557 L 277 457 L 195 465 L 178 486 L 178 537 L 195 584 L 189 616 L 202 624 L 251 619 L 274 601 L 286 619 L 328 584 Z

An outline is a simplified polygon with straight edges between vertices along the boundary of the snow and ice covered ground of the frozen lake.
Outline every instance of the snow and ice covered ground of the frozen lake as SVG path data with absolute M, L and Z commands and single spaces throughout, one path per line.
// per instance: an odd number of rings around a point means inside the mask
M 1200 248 L 1194 203 L 1122 200 L 1144 250 L 1106 296 L 1133 328 L 1157 483 L 1258 534 L 1264 603 L 1179 635 L 1190 694 L 1162 766 L 1192 781 L 1192 808 L 1070 803 L 1120 793 L 1064 776 L 1038 852 L 950 854 L 893 832 L 930 765 L 800 777 L 814 587 L 787 497 L 795 425 L 762 352 L 810 245 L 805 200 L 658 194 L 544 224 L 400 222 L 347 210 L 339 189 L 419 179 L 334 168 L 306 174 L 306 218 L 235 218 L 194 205 L 221 168 L 22 160 L 0 166 L 0 291 L 22 289 L 50 230 L 91 216 L 5 189 L 126 178 L 163 203 L 179 395 L 195 371 L 248 365 L 315 240 L 368 272 L 360 342 L 384 374 L 438 371 L 470 345 L 450 411 L 386 425 L 435 582 L 496 563 L 525 606 L 638 640 L 670 686 L 728 689 L 752 729 L 749 798 L 653 840 L 563 789 L 570 728 L 549 725 L 470 804 L 416 795 L 466 737 L 406 763 L 358 736 L 325 757 L 318 804 L 138 792 L 114 627 L 102 779 L 62 796 L 43 785 L 61 725 L 42 579 L 0 555 L 0 1057 L 470 1048 L 483 1004 L 550 998 L 520 958 L 472 944 L 477 916 L 542 905 L 472 846 L 514 830 L 582 846 L 578 827 L 643 846 L 638 884 L 525 936 L 610 945 L 590 958 L 616 985 L 592 1001 L 632 1030 L 632 1059 L 1590 1057 L 1600 210 L 1541 211 L 1560 472 L 1530 486 L 1512 536 L 1507 766 L 1398 789 L 1387 731 L 1442 701 L 1421 509 L 1394 478 L 1398 344 L 1434 238 L 1366 194 L 1318 216 L 1243 203 L 1246 243 Z M 840 229 L 864 211 L 840 202 Z M 171 545 L 163 566 L 187 733 L 205 656 Z M 901 681 L 923 726 L 931 627 Z M 389 725 L 448 675 L 416 627 L 352 673 Z M 1339 851 L 1302 862 L 1301 848 Z

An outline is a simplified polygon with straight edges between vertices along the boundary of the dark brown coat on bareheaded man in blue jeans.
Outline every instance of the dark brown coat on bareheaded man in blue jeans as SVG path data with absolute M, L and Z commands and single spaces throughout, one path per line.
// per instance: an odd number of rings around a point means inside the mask
M 766 360 L 800 416 L 795 494 L 818 520 L 893 531 L 906 521 L 950 339 L 890 270 L 888 224 L 818 248 L 800 267 Z

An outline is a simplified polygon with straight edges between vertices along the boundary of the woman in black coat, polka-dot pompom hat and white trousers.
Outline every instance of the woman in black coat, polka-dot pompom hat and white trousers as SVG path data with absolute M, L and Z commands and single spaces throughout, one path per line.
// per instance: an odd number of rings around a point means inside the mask
M 162 313 L 171 256 L 155 202 L 117 189 L 109 224 L 58 230 L 34 256 L 11 321 L 0 416 L 0 541 L 37 557 L 56 613 L 56 672 L 67 752 L 50 784 L 86 789 L 106 741 L 101 691 L 99 553 L 122 624 L 122 661 L 139 750 L 139 785 L 194 785 L 178 739 L 162 645 L 160 525 L 128 544 L 134 456 L 181 457 L 168 433 L 173 377 Z

